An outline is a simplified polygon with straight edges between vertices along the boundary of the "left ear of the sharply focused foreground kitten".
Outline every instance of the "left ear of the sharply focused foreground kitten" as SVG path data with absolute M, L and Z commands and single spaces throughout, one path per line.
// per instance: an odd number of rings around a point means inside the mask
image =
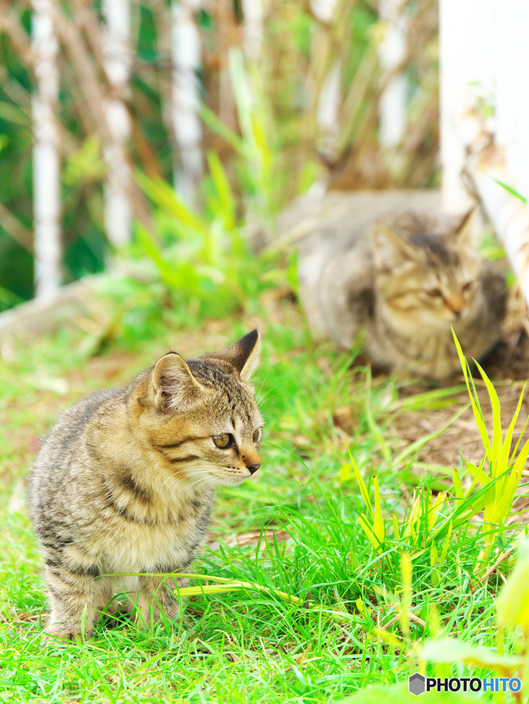
M 154 398 L 163 413 L 187 408 L 204 391 L 185 359 L 170 352 L 158 360 L 152 372 Z

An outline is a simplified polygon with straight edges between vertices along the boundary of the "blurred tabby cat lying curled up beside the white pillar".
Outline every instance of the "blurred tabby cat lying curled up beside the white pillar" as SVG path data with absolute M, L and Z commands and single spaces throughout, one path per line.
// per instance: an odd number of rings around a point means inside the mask
M 375 363 L 432 379 L 460 370 L 452 327 L 466 356 L 483 358 L 501 337 L 507 291 L 472 244 L 474 220 L 397 212 L 334 244 L 313 237 L 299 257 L 313 333 L 350 348 L 363 329 Z

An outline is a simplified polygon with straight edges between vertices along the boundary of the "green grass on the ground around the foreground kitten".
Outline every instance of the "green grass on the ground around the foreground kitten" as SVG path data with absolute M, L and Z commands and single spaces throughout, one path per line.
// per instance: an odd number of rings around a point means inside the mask
M 136 334 L 134 326 L 127 332 L 123 318 L 112 334 L 106 329 L 101 356 L 90 356 L 94 340 L 74 329 L 32 346 L 18 344 L 12 359 L 0 363 L 2 699 L 338 702 L 376 683 L 405 681 L 418 667 L 425 639 L 453 636 L 474 646 L 496 646 L 494 602 L 502 582 L 497 572 L 485 582 L 479 579 L 480 550 L 490 544 L 483 530 L 467 521 L 448 541 L 445 530 L 432 555 L 432 532 L 453 506 L 446 500 L 437 507 L 440 516 L 432 525 L 428 486 L 433 479 L 425 475 L 425 486 L 407 499 L 400 486 L 413 454 L 406 455 L 390 420 L 406 408 L 428 413 L 451 401 L 452 392 L 425 386 L 422 396 L 400 398 L 399 389 L 409 382 L 371 379 L 365 367 L 352 372 L 355 352 L 340 355 L 313 344 L 292 304 L 282 303 L 275 315 L 252 305 L 251 320 L 238 313 L 218 324 L 206 322 L 201 333 L 192 322 L 182 327 L 182 311 L 153 304 L 157 314 Z M 28 438 L 44 434 L 58 410 L 94 389 L 127 382 L 159 353 L 178 349 L 179 341 L 192 345 L 186 353 L 201 353 L 212 335 L 220 347 L 247 332 L 259 316 L 266 320 L 256 376 L 266 419 L 263 466 L 255 481 L 218 491 L 213 522 L 218 549 L 204 548 L 195 570 L 269 591 L 199 593 L 187 601 L 182 624 L 141 631 L 126 619 L 113 629 L 100 623 L 87 643 L 43 648 L 41 617 L 47 606 L 40 558 L 25 508 L 8 510 L 30 463 L 34 441 Z M 332 420 L 339 408 L 350 409 L 347 437 Z M 382 544 L 372 542 L 359 523 L 359 515 L 369 512 L 346 441 L 371 502 L 371 472 L 377 470 L 380 510 L 376 513 L 373 503 L 373 516 L 385 524 Z M 415 533 L 404 539 L 413 506 Z M 393 515 L 399 539 L 393 536 Z M 286 532 L 287 540 L 275 541 L 266 533 L 270 529 Z M 262 531 L 257 544 L 230 546 L 233 534 L 256 530 Z M 499 527 L 490 564 L 513 538 Z M 413 574 L 406 572 L 406 550 L 420 553 L 411 555 Z M 508 563 L 503 569 L 509 571 Z M 278 591 L 299 602 L 280 598 Z M 425 625 L 403 617 L 407 612 Z M 504 635 L 506 653 L 519 648 L 516 634 Z M 449 672 L 449 667 L 430 664 L 428 672 Z M 490 676 L 487 668 L 454 667 Z

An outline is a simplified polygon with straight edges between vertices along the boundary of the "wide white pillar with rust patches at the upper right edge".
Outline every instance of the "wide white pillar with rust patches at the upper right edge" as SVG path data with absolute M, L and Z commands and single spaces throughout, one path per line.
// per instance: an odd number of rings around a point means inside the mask
M 528 0 L 440 0 L 444 205 L 466 167 L 529 304 L 529 208 L 501 185 L 529 196 L 528 37 Z

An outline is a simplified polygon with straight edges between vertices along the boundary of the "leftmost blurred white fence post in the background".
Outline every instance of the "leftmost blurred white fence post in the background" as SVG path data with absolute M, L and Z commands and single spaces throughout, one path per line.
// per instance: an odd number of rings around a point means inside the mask
M 49 0 L 33 0 L 32 44 L 35 51 L 37 94 L 32 100 L 33 213 L 35 218 L 35 295 L 53 298 L 62 281 L 61 186 L 58 132 L 57 41 Z

